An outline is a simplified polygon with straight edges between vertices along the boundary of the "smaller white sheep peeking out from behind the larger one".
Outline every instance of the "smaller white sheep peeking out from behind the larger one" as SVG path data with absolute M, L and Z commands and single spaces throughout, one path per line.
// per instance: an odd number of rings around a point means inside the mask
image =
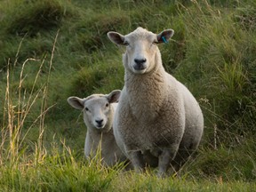
M 84 124 L 87 133 L 84 144 L 84 153 L 87 158 L 96 156 L 101 148 L 103 164 L 113 166 L 127 158 L 118 148 L 113 134 L 112 124 L 120 96 L 119 90 L 108 95 L 92 94 L 87 98 L 69 97 L 68 103 L 76 109 L 83 110 Z

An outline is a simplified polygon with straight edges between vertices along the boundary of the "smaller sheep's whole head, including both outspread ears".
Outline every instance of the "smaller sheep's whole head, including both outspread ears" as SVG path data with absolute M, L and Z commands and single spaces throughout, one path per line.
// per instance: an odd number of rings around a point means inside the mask
M 92 94 L 84 99 L 69 97 L 68 103 L 73 108 L 83 110 L 84 123 L 87 128 L 108 132 L 114 116 L 114 108 L 111 107 L 111 104 L 118 102 L 120 93 L 120 90 L 115 90 L 108 95 Z

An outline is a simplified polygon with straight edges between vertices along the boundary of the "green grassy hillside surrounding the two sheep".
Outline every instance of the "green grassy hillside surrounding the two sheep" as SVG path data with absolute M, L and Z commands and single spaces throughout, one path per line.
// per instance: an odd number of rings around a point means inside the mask
M 256 2 L 0 1 L 0 191 L 252 191 L 256 179 Z M 179 177 L 84 160 L 72 95 L 122 89 L 110 30 L 172 28 L 164 68 L 204 112 L 204 138 Z

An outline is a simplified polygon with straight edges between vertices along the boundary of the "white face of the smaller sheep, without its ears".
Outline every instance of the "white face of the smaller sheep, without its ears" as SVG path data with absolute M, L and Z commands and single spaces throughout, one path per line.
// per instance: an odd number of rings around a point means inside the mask
M 92 98 L 84 102 L 84 121 L 96 129 L 104 129 L 108 124 L 110 103 L 105 97 Z

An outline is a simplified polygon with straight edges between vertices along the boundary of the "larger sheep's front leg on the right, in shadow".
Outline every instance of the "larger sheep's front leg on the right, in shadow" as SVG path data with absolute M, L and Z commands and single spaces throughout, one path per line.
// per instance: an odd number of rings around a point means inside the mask
M 164 148 L 158 157 L 158 177 L 163 177 L 170 167 L 172 159 L 176 156 L 179 145 L 173 145 L 172 148 Z

